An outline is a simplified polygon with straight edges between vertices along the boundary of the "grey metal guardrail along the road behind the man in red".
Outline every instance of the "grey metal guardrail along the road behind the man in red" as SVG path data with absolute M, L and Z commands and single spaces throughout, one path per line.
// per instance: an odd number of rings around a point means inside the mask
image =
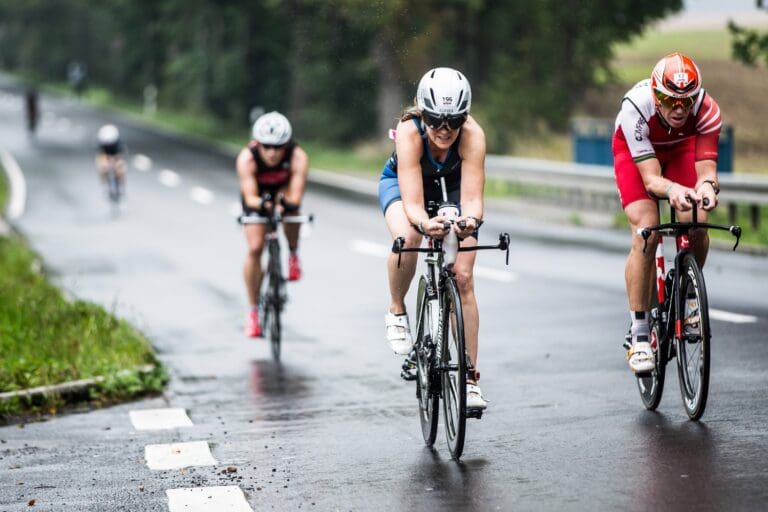
M 494 180 L 531 187 L 560 190 L 552 199 L 571 206 L 620 210 L 613 167 L 488 155 L 486 175 Z M 720 201 L 735 222 L 738 207 L 750 210 L 753 227 L 759 225 L 759 210 L 768 204 L 768 177 L 721 173 Z

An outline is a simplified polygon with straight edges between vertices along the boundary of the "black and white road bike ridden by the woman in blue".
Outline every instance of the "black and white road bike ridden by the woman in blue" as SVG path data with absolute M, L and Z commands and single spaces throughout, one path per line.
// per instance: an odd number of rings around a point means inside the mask
M 441 208 L 456 208 L 443 203 Z M 463 222 L 463 221 L 461 221 Z M 460 226 L 463 228 L 464 226 Z M 446 221 L 446 229 L 451 221 Z M 479 225 L 478 225 L 479 227 Z M 404 247 L 405 238 L 398 237 L 392 252 L 400 258 L 404 252 L 425 253 L 426 269 L 419 279 L 416 301 L 416 336 L 411 356 L 403 363 L 401 376 L 416 381 L 419 420 L 424 442 L 432 446 L 437 437 L 439 401 L 443 400 L 443 423 L 451 457 L 458 460 L 464 450 L 467 418 L 480 419 L 482 409 L 467 409 L 466 381 L 475 379 L 475 369 L 464 344 L 464 317 L 461 309 L 453 265 L 455 253 L 446 254 L 443 240 L 426 237 L 426 247 Z M 455 250 L 507 251 L 509 264 L 509 234 L 499 234 L 496 245 L 458 247 Z M 413 370 L 415 369 L 415 374 Z

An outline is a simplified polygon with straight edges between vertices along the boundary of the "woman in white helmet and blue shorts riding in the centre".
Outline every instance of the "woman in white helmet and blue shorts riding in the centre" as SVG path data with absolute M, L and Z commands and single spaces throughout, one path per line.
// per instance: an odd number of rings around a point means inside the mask
M 416 90 L 416 105 L 401 116 L 395 132 L 395 151 L 379 181 L 379 202 L 392 238 L 405 237 L 406 247 L 421 245 L 422 235 L 442 239 L 448 234 L 437 217 L 442 203 L 440 178 L 445 178 L 448 200 L 459 205 L 455 229 L 462 246 L 477 245 L 477 229 L 483 217 L 485 183 L 485 133 L 469 115 L 472 91 L 459 71 L 435 68 L 428 71 Z M 433 206 L 430 205 L 433 203 Z M 387 342 L 396 354 L 406 355 L 413 336 L 405 310 L 405 295 L 416 272 L 415 254 L 387 260 L 390 303 L 385 315 Z M 461 252 L 453 265 L 464 313 L 467 353 L 477 368 L 479 316 L 473 269 L 474 251 Z M 467 380 L 467 406 L 484 409 L 479 372 Z

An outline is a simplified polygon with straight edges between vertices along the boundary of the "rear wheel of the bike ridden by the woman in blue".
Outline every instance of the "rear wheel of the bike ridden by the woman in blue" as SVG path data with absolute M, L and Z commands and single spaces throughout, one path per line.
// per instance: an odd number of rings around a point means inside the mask
M 419 401 L 419 423 L 424 443 L 427 446 L 435 444 L 437 438 L 437 420 L 440 407 L 439 389 L 435 378 L 434 344 L 431 326 L 430 300 L 427 294 L 427 280 L 424 276 L 419 280 L 419 291 L 416 300 L 416 398 Z

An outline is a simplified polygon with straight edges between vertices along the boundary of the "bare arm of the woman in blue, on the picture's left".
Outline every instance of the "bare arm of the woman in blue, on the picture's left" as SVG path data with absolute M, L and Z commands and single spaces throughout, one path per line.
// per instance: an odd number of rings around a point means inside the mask
M 424 208 L 424 183 L 421 177 L 421 155 L 423 152 L 421 135 L 413 121 L 400 121 L 395 134 L 397 150 L 397 181 L 400 195 L 408 220 L 414 226 L 420 226 L 424 233 L 442 238 L 446 231 L 443 223 L 430 219 Z

